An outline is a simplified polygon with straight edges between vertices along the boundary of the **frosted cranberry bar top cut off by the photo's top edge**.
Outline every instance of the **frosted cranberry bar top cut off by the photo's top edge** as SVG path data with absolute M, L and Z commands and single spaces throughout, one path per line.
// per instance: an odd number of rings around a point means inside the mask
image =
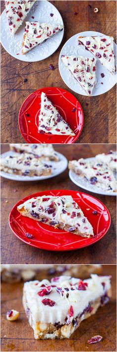
M 36 0 L 5 1 L 8 25 L 12 35 L 15 34 L 19 26 L 22 24 L 35 1 Z

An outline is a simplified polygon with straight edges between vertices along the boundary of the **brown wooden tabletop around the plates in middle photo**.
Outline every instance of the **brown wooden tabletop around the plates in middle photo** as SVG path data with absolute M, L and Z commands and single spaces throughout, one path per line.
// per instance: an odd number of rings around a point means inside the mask
M 67 160 L 93 157 L 98 153 L 116 150 L 116 145 L 55 145 L 55 150 Z M 8 145 L 1 146 L 1 153 Z M 94 194 L 109 209 L 111 227 L 99 242 L 75 251 L 51 252 L 30 247 L 11 232 L 8 215 L 13 205 L 29 194 L 45 189 L 71 189 L 83 191 L 68 176 L 68 169 L 62 174 L 42 181 L 19 182 L 1 178 L 1 264 L 116 264 L 116 197 Z M 85 192 L 85 190 L 84 190 Z

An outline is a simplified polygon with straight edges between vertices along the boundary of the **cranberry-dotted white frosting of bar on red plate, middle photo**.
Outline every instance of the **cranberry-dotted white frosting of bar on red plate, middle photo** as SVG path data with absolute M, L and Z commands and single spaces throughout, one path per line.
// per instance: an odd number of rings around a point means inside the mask
M 28 212 L 38 218 L 35 214 L 52 219 L 52 223 L 69 225 L 68 231 L 78 229 L 86 237 L 93 235 L 93 228 L 87 218 L 84 216 L 78 204 L 73 201 L 71 196 L 41 196 L 27 200 L 20 204 L 17 209 L 28 210 Z M 88 236 L 89 235 L 89 236 Z

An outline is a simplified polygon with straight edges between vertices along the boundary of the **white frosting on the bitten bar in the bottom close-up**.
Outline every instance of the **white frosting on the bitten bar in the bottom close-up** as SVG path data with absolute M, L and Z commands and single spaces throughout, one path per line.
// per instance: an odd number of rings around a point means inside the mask
M 46 287 L 47 294 L 43 295 L 45 292 L 43 289 Z M 66 317 L 71 306 L 73 315 L 70 320 L 80 315 L 88 307 L 89 302 L 104 296 L 110 288 L 109 276 L 100 277 L 92 274 L 90 279 L 83 281 L 61 276 L 52 279 L 51 282 L 48 280 L 26 282 L 24 294 L 34 323 L 55 324 L 60 322 L 66 324 Z M 43 303 L 45 299 L 53 301 L 53 306 L 45 305 Z

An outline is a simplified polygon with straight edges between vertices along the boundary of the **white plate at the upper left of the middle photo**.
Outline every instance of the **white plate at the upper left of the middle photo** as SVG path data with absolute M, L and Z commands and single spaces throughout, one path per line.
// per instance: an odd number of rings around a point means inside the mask
M 1 158 L 7 157 L 8 155 L 15 155 L 15 152 L 5 152 L 3 154 L 1 154 Z M 52 162 L 52 161 L 45 161 L 45 164 L 50 165 L 51 166 L 51 175 L 49 176 L 19 176 L 19 175 L 13 175 L 13 174 L 8 174 L 8 173 L 4 173 L 3 171 L 1 171 L 1 176 L 4 178 L 8 178 L 8 179 L 12 179 L 14 181 L 41 181 L 43 179 L 47 179 L 47 178 L 52 178 L 55 177 L 61 173 L 63 173 L 63 171 L 67 168 L 67 159 L 64 157 L 64 155 L 57 153 L 57 156 L 59 158 L 58 162 Z

